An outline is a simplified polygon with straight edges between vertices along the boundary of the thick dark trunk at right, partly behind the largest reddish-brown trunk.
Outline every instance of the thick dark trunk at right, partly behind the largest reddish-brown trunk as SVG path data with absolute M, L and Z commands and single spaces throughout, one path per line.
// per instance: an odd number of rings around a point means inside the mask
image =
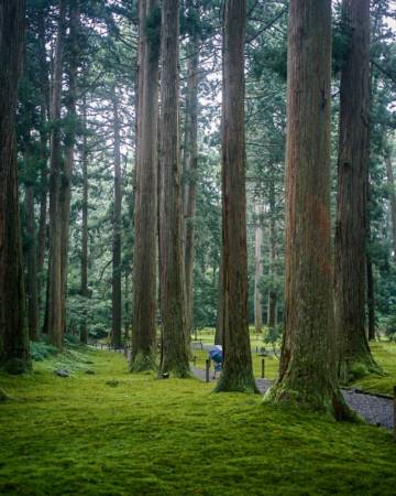
M 377 371 L 365 333 L 366 180 L 370 160 L 370 1 L 343 0 L 334 238 L 336 328 L 342 377 Z M 358 370 L 359 368 L 359 370 Z

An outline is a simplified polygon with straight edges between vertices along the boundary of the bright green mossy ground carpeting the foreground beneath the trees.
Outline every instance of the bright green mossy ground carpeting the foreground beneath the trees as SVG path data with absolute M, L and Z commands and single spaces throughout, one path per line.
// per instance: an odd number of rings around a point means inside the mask
M 395 494 L 389 431 L 132 375 L 121 354 L 69 349 L 0 389 L 1 495 Z

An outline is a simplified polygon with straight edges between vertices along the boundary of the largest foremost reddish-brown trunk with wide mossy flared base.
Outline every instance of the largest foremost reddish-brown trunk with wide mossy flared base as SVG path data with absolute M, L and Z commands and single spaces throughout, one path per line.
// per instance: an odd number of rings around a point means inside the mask
M 285 332 L 267 398 L 341 419 L 330 226 L 331 0 L 290 0 L 287 61 Z

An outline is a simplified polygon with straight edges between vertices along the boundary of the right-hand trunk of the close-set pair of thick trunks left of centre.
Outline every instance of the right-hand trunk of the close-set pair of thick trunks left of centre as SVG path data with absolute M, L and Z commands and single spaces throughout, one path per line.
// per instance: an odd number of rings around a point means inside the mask
M 163 0 L 161 43 L 161 374 L 189 375 L 179 162 L 179 2 Z

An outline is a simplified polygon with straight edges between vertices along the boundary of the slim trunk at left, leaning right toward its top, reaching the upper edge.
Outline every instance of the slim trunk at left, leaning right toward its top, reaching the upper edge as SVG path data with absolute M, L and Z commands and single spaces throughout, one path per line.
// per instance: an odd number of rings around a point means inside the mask
M 79 30 L 79 0 L 69 1 L 69 85 L 66 100 L 67 127 L 65 132 L 65 161 L 63 162 L 59 214 L 61 214 L 61 309 L 62 328 L 66 333 L 66 299 L 67 299 L 67 269 L 68 269 L 68 246 L 70 230 L 70 201 L 72 201 L 72 177 L 75 162 L 75 141 L 77 126 L 77 69 L 78 69 L 78 30 Z

